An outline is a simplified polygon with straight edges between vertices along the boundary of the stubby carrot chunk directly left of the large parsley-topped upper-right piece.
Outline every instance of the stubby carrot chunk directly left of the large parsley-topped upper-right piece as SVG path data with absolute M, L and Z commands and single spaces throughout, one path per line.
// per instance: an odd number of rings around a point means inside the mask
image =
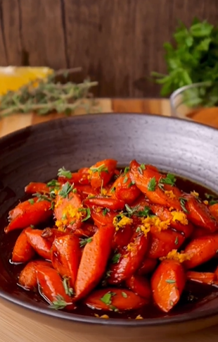
M 128 171 L 116 179 L 110 188 L 110 193 L 126 204 L 132 204 L 139 197 L 141 191 L 132 183 Z

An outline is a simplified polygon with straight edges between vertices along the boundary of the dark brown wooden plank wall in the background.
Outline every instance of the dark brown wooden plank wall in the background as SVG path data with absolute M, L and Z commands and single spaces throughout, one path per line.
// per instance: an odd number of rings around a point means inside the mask
M 82 66 L 97 96 L 158 96 L 162 44 L 194 16 L 217 23 L 218 1 L 0 0 L 0 65 Z

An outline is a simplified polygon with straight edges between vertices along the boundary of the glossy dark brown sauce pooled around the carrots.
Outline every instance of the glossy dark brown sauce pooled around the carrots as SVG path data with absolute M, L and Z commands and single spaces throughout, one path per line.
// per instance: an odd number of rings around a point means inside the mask
M 207 190 L 207 188 L 203 187 L 202 185 L 198 185 L 196 183 L 193 183 L 192 181 L 185 180 L 183 178 L 177 177 L 177 186 L 184 190 L 186 193 L 190 193 L 191 191 L 195 190 L 197 193 L 199 193 L 200 198 L 203 200 L 205 199 L 205 193 L 212 192 L 210 190 Z M 9 193 L 8 193 L 9 194 Z M 214 195 L 214 194 L 212 194 Z M 10 196 L 10 194 L 8 195 Z M 21 200 L 27 200 L 29 197 L 25 196 Z M 7 226 L 8 213 L 6 213 L 3 217 L 0 219 L 1 227 Z M 47 223 L 46 226 L 53 226 L 53 221 L 50 223 Z M 45 228 L 46 227 L 41 226 L 39 228 Z M 37 227 L 38 228 L 38 227 Z M 38 291 L 26 291 L 25 289 L 18 286 L 18 275 L 20 274 L 20 271 L 24 268 L 24 264 L 12 264 L 10 262 L 11 259 L 11 252 L 13 250 L 13 246 L 15 245 L 15 240 L 18 238 L 20 234 L 20 231 L 12 231 L 11 233 L 4 234 L 3 238 L 0 241 L 0 248 L 1 248 L 1 260 L 2 263 L 0 265 L 0 273 L 3 273 L 5 270 L 8 272 L 8 274 L 11 277 L 10 283 L 8 283 L 6 291 L 8 293 L 18 293 L 20 295 L 20 298 L 23 298 L 23 295 L 27 295 L 29 298 L 31 298 L 34 301 L 37 302 L 44 302 L 43 298 L 39 295 Z M 187 242 L 186 242 L 187 243 Z M 183 249 L 183 248 L 182 248 Z M 37 257 L 39 259 L 39 257 Z M 197 271 L 214 271 L 216 269 L 218 264 L 218 259 L 212 259 L 210 262 L 207 262 L 207 264 L 203 264 L 202 266 L 196 268 Z M 103 310 L 91 310 L 89 307 L 86 307 L 83 303 L 77 303 L 77 308 L 73 311 L 73 313 L 76 314 L 82 314 L 82 315 L 88 315 L 88 316 L 101 316 L 103 314 L 107 314 L 109 317 L 113 318 L 129 318 L 129 319 L 136 319 L 139 315 L 146 318 L 157 318 L 157 317 L 166 317 L 166 316 L 174 316 L 175 314 L 181 314 L 184 312 L 190 312 L 195 307 L 198 307 L 202 305 L 203 303 L 212 300 L 213 298 L 218 297 L 218 287 L 216 286 L 209 286 L 205 284 L 201 284 L 195 281 L 188 281 L 186 283 L 186 288 L 184 290 L 184 293 L 181 296 L 181 300 L 179 301 L 179 304 L 174 307 L 174 309 L 169 312 L 168 314 L 165 314 L 164 312 L 161 312 L 158 307 L 153 305 L 153 303 L 150 303 L 146 305 L 145 307 L 142 307 L 140 310 L 125 312 L 125 313 L 117 313 L 117 312 L 103 312 Z M 25 297 L 24 297 L 25 298 Z

